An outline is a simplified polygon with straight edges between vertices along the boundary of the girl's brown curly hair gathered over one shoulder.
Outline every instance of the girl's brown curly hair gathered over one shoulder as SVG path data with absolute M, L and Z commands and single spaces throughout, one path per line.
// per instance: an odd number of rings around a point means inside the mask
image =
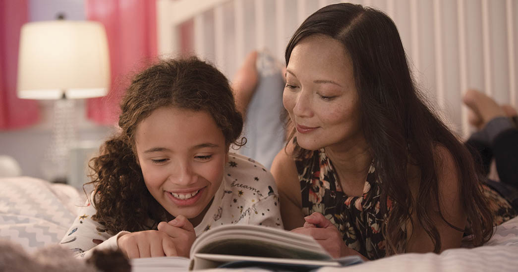
M 104 225 L 98 231 L 156 229 L 160 221 L 172 217 L 146 188 L 134 147 L 138 124 L 155 109 L 206 111 L 221 128 L 227 146 L 246 143 L 239 137 L 243 118 L 228 80 L 196 57 L 167 59 L 138 73 L 120 107 L 121 132 L 106 141 L 89 163 L 93 173 L 88 184 L 95 187 L 91 202 L 97 210 L 92 219 Z

